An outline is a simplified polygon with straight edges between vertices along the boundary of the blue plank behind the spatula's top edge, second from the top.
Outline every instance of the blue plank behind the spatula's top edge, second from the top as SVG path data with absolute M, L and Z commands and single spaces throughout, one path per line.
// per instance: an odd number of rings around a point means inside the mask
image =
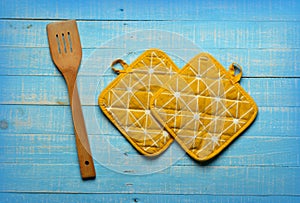
M 46 25 L 48 20 L 0 20 L 0 46 L 48 47 Z M 115 48 L 131 50 L 147 47 L 183 49 L 193 44 L 208 48 L 269 48 L 294 49 L 300 47 L 298 22 L 235 22 L 220 21 L 78 21 L 83 48 L 99 48 L 118 37 Z M 149 31 L 160 30 L 158 31 Z M 135 34 L 130 32 L 141 31 Z M 161 32 L 170 32 L 173 37 Z M 127 33 L 127 38 L 120 36 Z M 154 34 L 157 35 L 154 35 Z M 136 35 L 138 37 L 136 37 Z M 22 36 L 22 37 L 20 37 Z M 37 37 L 40 36 L 40 37 Z M 132 36 L 132 37 L 131 37 Z M 146 38 L 142 38 L 146 36 Z M 174 43 L 176 38 L 176 43 Z M 178 40 L 178 39 L 185 40 Z M 188 46 L 186 39 L 190 40 Z M 115 39 L 116 40 L 116 39 Z M 110 41 L 112 43 L 112 41 Z M 113 41 L 115 42 L 115 41 Z

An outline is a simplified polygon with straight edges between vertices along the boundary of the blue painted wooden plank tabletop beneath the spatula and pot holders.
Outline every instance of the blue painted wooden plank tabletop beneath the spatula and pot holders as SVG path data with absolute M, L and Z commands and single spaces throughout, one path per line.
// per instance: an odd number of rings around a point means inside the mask
M 1 1 L 0 202 L 299 202 L 299 10 L 297 0 Z M 46 25 L 63 19 L 77 19 L 81 36 L 77 83 L 95 180 L 80 178 L 67 87 L 49 54 Z M 182 41 L 130 34 L 149 29 Z M 204 50 L 225 67 L 243 66 L 241 85 L 258 117 L 209 163 L 186 154 L 157 166 L 124 161 L 137 152 L 97 106 L 116 77 L 103 61 L 130 61 L 128 50 L 153 45 L 186 56 Z

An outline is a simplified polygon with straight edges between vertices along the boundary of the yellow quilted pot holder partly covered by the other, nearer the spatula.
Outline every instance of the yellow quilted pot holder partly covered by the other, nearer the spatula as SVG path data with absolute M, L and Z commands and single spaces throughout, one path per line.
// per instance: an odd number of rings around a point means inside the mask
M 124 70 L 113 68 L 119 75 L 100 94 L 99 106 L 140 153 L 158 155 L 173 138 L 151 114 L 150 100 L 178 68 L 158 49 L 147 50 L 130 65 L 116 63 Z

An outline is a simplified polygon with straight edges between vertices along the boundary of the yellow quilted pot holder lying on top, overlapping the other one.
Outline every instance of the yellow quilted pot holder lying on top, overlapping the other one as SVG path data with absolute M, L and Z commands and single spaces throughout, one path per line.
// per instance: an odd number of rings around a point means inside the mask
M 226 71 L 200 53 L 153 95 L 151 112 L 191 157 L 211 159 L 256 117 L 255 102 L 238 84 L 241 76 L 237 64 Z

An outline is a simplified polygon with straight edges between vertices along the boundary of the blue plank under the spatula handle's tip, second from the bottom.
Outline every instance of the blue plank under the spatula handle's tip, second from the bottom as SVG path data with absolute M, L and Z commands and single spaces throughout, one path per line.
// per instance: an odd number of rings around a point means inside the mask
M 77 164 L 1 164 L 0 191 L 246 196 L 300 194 L 299 167 L 171 166 L 143 176 L 116 173 L 97 163 L 95 167 L 97 179 L 82 182 Z

